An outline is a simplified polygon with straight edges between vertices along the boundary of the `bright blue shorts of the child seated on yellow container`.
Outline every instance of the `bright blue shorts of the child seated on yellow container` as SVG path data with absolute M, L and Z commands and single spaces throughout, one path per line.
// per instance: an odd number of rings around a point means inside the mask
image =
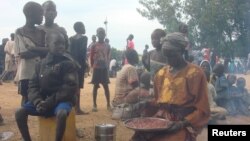
M 22 107 L 24 109 L 26 109 L 26 111 L 28 112 L 29 115 L 32 115 L 32 116 L 52 117 L 52 116 L 55 116 L 59 110 L 66 110 L 67 114 L 69 114 L 69 112 L 72 109 L 72 104 L 69 102 L 61 102 L 55 108 L 51 109 L 50 111 L 46 112 L 45 114 L 38 113 L 36 111 L 35 105 L 33 105 L 30 101 L 25 103 Z

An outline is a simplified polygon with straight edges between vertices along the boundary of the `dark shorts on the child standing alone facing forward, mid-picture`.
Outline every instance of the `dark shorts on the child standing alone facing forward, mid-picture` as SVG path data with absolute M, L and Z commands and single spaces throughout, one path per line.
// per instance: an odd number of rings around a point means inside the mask
M 92 84 L 108 84 L 109 76 L 107 68 L 94 68 L 92 76 Z

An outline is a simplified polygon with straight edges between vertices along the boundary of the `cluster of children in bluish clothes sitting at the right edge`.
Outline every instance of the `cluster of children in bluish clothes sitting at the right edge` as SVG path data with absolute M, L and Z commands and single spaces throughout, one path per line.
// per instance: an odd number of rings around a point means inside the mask
M 229 115 L 250 115 L 250 95 L 245 88 L 246 80 L 234 74 L 226 76 L 222 64 L 215 65 L 213 73 L 212 83 L 217 92 L 217 104 L 225 108 Z

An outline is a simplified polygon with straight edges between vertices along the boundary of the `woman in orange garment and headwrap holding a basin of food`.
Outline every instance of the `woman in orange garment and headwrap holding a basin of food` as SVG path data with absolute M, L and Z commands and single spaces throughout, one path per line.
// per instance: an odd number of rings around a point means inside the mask
M 169 65 L 156 73 L 155 100 L 148 106 L 157 107 L 154 117 L 172 122 L 162 132 L 136 132 L 132 141 L 195 141 L 210 116 L 206 77 L 183 58 L 187 41 L 182 33 L 168 34 L 162 43 Z

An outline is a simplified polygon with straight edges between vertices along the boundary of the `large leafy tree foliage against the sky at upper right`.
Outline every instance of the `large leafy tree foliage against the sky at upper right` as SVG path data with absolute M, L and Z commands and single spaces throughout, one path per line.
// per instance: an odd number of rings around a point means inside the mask
M 249 0 L 139 0 L 137 11 L 157 19 L 167 30 L 178 30 L 180 22 L 189 26 L 195 46 L 213 47 L 230 56 L 246 56 L 250 39 Z

